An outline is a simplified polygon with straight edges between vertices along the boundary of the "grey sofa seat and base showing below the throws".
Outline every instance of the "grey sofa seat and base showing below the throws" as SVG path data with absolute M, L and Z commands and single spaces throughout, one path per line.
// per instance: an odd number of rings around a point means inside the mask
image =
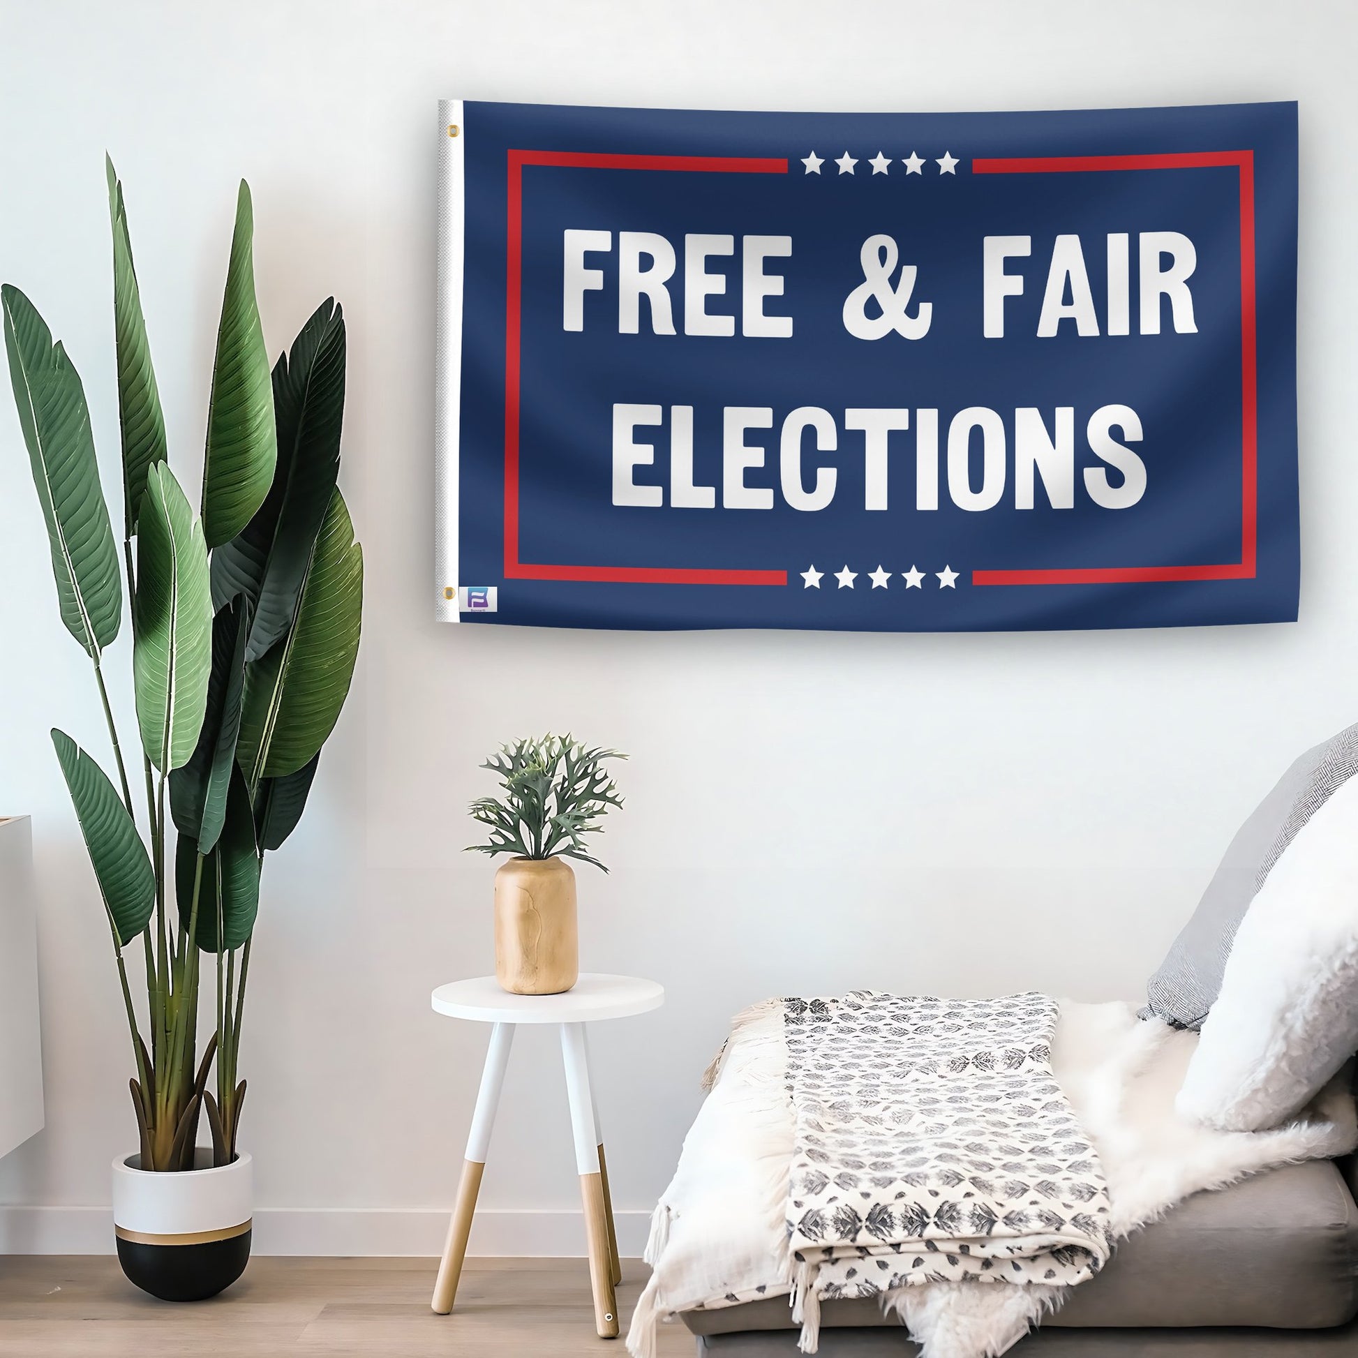
M 1358 1358 L 1358 1158 L 1188 1198 L 1009 1350 L 1014 1358 Z M 786 1297 L 680 1317 L 701 1358 L 796 1358 Z M 915 1358 L 876 1301 L 822 1308 L 820 1358 Z

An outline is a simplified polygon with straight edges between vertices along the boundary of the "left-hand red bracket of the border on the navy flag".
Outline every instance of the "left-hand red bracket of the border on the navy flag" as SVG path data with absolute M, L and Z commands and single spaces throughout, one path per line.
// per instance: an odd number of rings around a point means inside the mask
M 667 585 L 785 585 L 786 570 L 683 566 L 559 566 L 519 559 L 519 348 L 523 296 L 523 167 L 786 174 L 788 162 L 752 156 L 623 156 L 583 151 L 509 152 L 509 258 L 505 272 L 505 579 Z

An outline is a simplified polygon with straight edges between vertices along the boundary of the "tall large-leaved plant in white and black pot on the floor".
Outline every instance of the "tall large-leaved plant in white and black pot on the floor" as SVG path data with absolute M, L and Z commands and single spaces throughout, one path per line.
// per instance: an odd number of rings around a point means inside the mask
M 244 182 L 194 513 L 167 462 L 122 186 L 111 163 L 107 171 L 121 565 L 80 376 L 18 288 L 0 288 L 0 310 L 61 618 L 92 661 L 117 777 L 53 731 L 103 898 L 136 1071 L 140 1145 L 113 1167 L 118 1258 L 137 1286 L 189 1301 L 235 1282 L 250 1253 L 238 1057 L 259 873 L 301 816 L 349 691 L 363 551 L 335 486 L 344 316 L 323 303 L 270 375 Z M 103 678 L 124 579 L 140 770 L 120 741 Z M 145 794 L 140 826 L 133 788 Z M 200 1042 L 204 959 L 216 978 L 216 1023 Z M 210 1145 L 200 1148 L 204 1122 Z

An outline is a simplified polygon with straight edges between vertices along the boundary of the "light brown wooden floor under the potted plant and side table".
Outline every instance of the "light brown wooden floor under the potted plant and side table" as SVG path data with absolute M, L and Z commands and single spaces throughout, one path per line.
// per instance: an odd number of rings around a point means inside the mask
M 593 1332 L 583 1259 L 469 1259 L 451 1316 L 429 1309 L 433 1259 L 251 1259 L 212 1301 L 137 1291 L 103 1256 L 0 1256 L 3 1358 L 626 1358 Z M 625 1259 L 622 1332 L 645 1264 Z M 693 1358 L 682 1325 L 660 1358 Z

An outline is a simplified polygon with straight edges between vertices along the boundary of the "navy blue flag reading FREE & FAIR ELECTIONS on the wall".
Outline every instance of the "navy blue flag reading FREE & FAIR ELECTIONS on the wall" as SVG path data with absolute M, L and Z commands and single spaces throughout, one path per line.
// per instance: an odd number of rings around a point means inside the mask
M 440 617 L 1297 617 L 1297 107 L 441 106 Z

